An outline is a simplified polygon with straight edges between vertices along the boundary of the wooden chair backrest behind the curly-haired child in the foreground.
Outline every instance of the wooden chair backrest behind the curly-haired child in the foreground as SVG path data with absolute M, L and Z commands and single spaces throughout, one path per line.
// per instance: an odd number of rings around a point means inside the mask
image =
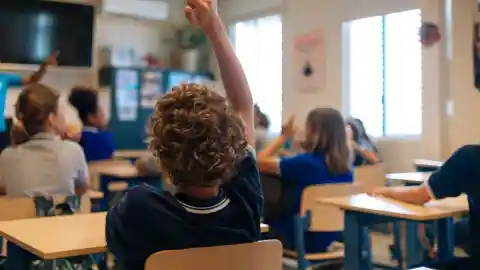
M 276 270 L 282 269 L 282 252 L 278 240 L 161 251 L 148 257 L 145 270 Z

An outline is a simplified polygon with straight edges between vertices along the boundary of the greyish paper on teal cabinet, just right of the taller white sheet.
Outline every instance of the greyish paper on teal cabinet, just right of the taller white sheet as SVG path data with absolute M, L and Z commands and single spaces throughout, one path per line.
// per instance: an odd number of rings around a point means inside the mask
M 140 105 L 142 108 L 152 109 L 163 93 L 161 72 L 144 72 L 143 84 L 140 90 Z

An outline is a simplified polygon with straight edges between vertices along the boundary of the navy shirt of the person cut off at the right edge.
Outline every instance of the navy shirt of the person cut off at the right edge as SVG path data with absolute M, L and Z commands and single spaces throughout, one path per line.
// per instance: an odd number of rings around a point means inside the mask
M 480 262 L 480 145 L 459 148 L 426 182 L 433 199 L 468 196 L 471 258 Z M 473 265 L 473 264 L 472 264 Z

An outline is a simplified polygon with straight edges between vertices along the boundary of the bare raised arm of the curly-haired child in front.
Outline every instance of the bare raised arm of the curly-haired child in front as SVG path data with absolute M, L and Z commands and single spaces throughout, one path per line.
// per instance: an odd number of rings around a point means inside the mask
M 185 15 L 191 24 L 201 27 L 210 40 L 228 101 L 245 123 L 248 143 L 255 145 L 252 94 L 242 65 L 230 44 L 227 30 L 211 0 L 187 2 Z

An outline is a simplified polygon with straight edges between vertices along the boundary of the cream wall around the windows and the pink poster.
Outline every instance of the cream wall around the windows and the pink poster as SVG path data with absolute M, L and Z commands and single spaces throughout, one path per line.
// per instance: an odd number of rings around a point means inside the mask
M 384 139 L 379 148 L 390 171 L 412 170 L 412 159 L 444 159 L 458 146 L 480 138 L 479 93 L 473 87 L 472 33 L 475 0 L 453 2 L 453 50 L 439 44 L 423 53 L 423 133 L 418 139 Z M 284 18 L 283 116 L 304 117 L 311 108 L 330 106 L 348 112 L 342 94 L 343 22 L 422 9 L 424 20 L 445 25 L 443 0 L 227 0 L 219 11 L 227 22 L 280 11 Z M 297 94 L 292 64 L 292 40 L 296 35 L 319 29 L 326 40 L 326 86 L 317 93 Z M 444 39 L 445 40 L 445 39 Z M 453 113 L 445 112 L 451 101 Z M 408 109 L 408 108 L 405 108 Z

